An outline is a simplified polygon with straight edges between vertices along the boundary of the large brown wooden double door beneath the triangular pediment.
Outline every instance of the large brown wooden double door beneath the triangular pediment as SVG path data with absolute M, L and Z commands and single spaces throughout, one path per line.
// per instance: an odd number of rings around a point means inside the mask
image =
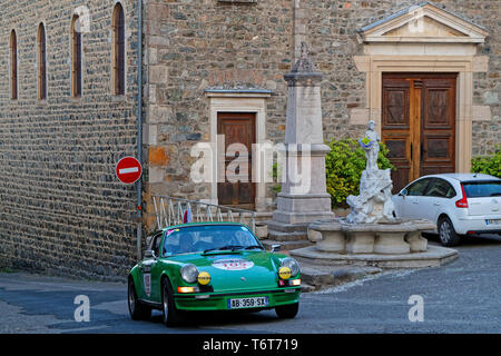
M 384 73 L 382 140 L 397 168 L 393 191 L 455 170 L 455 73 Z

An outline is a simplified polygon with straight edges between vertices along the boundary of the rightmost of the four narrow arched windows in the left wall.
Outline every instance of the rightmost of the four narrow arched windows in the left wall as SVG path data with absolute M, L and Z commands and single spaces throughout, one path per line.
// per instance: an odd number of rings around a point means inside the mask
M 125 16 L 120 3 L 115 6 L 112 17 L 112 92 L 125 95 Z

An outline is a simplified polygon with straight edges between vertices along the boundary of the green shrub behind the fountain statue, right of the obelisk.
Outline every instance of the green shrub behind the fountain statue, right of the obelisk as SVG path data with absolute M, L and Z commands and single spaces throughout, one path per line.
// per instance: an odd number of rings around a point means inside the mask
M 327 192 L 333 207 L 346 207 L 346 197 L 360 194 L 360 178 L 365 169 L 365 152 L 355 139 L 333 140 L 328 144 L 331 152 L 325 158 Z M 389 149 L 380 142 L 377 166 L 380 169 L 395 169 L 387 159 Z

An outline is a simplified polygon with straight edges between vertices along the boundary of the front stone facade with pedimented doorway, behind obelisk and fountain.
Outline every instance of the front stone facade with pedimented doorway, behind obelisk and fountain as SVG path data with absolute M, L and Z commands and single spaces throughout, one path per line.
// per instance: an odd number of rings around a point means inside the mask
M 148 1 L 146 8 L 150 78 L 146 201 L 163 192 L 219 204 L 230 200 L 222 196 L 220 185 L 189 181 L 195 160 L 190 148 L 198 141 L 214 141 L 224 120 L 220 113 L 227 111 L 255 115 L 255 142 L 283 141 L 284 75 L 302 41 L 310 44 L 312 60 L 324 75 L 325 140 L 360 137 L 374 119 L 380 134 L 387 134 L 383 140 L 394 148 L 401 172 L 394 178 L 400 184 L 441 169 L 469 171 L 472 156 L 485 155 L 501 141 L 499 1 L 205 0 Z M 403 125 L 407 131 L 399 132 L 404 137 L 391 141 L 394 132 L 382 132 L 384 106 L 392 105 L 383 102 L 387 73 L 403 73 L 401 81 L 413 82 L 422 79 L 412 75 L 422 73 L 424 89 L 413 92 L 439 100 L 436 106 L 423 101 L 423 108 L 439 108 L 449 96 L 449 131 L 431 122 L 433 130 L 428 136 L 421 132 L 420 140 L 416 125 L 407 122 Z M 438 83 L 431 73 L 452 77 Z M 455 89 L 435 95 L 438 88 L 430 85 L 440 87 L 444 80 Z M 409 95 L 405 90 L 403 96 Z M 389 100 L 400 100 L 397 95 Z M 401 106 L 409 111 L 409 102 Z M 414 152 L 421 146 L 428 166 L 420 167 L 415 157 L 412 162 L 411 145 Z M 269 210 L 269 186 L 256 184 L 255 190 L 254 208 Z M 147 207 L 151 212 L 153 206 Z

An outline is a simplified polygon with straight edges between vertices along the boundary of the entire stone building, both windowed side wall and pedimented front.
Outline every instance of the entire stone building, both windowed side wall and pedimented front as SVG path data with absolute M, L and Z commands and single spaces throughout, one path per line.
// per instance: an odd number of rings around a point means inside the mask
M 114 167 L 120 157 L 137 155 L 137 1 L 120 1 L 127 89 L 118 97 L 110 83 L 116 2 L 1 1 L 0 264 L 98 277 L 124 275 L 135 260 L 136 192 L 116 180 Z M 82 96 L 73 99 L 69 29 L 79 6 L 89 9 L 90 32 L 82 36 Z M 326 141 L 361 136 L 370 119 L 385 134 L 387 112 L 406 108 L 409 113 L 409 96 L 425 100 L 448 81 L 452 101 L 443 107 L 453 123 L 446 141 L 443 135 L 424 134 L 415 141 L 415 126 L 407 125 L 404 134 L 393 136 L 401 138 L 393 146 L 395 157 L 401 150 L 404 164 L 419 175 L 419 162 L 409 159 L 411 145 L 433 148 L 435 142 L 440 155 L 452 152 L 454 170 L 468 171 L 472 156 L 501 142 L 500 1 L 144 0 L 143 7 L 145 233 L 155 225 L 153 195 L 273 209 L 267 184 L 193 182 L 197 158 L 190 152 L 195 144 L 214 142 L 222 132 L 252 144 L 282 142 L 284 75 L 303 41 L 324 75 Z M 48 98 L 42 102 L 35 81 L 40 21 L 48 44 Z M 17 100 L 9 89 L 12 29 L 19 48 Z M 401 78 L 391 77 L 396 73 Z M 404 89 L 386 88 L 385 80 Z M 414 119 L 415 102 L 409 113 Z M 426 101 L 423 107 L 433 106 Z M 383 137 L 394 134 L 387 132 Z

